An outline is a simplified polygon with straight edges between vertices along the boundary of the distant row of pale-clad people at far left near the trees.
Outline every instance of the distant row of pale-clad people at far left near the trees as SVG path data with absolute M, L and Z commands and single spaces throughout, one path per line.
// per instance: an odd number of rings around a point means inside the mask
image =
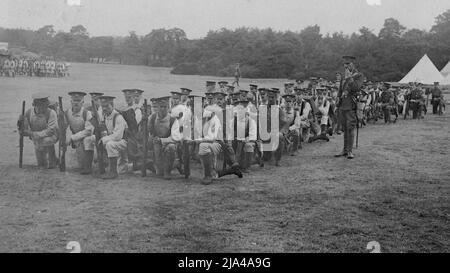
M 0 60 L 0 76 L 66 77 L 69 66 L 65 62 L 46 59 L 8 57 Z

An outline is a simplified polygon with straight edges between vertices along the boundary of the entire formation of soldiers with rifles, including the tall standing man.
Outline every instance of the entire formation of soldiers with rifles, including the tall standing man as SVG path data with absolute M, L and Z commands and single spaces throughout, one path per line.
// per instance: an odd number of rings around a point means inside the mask
M 420 119 L 427 94 L 433 114 L 445 110 L 438 83 L 428 89 L 418 83 L 372 83 L 356 69 L 355 57 L 343 59 L 344 73 L 337 73 L 336 80 L 297 80 L 283 89 L 256 84 L 237 89 L 226 81 L 207 81 L 203 96 L 180 88 L 150 101 L 143 99 L 143 90 L 126 89 L 121 110 L 115 107 L 117 98 L 103 93 L 70 92 L 68 109 L 61 98 L 51 104 L 47 94 L 37 93 L 30 109 L 22 106 L 21 153 L 23 137 L 28 137 L 40 167 L 59 165 L 65 171 L 65 152 L 71 148 L 80 174 L 92 174 L 97 164 L 103 179 L 135 171 L 167 180 L 176 171 L 189 178 L 197 163 L 208 185 L 227 175 L 242 178 L 253 165 L 280 166 L 282 157 L 297 156 L 306 143 L 325 143 L 334 134 L 344 136 L 335 157 L 353 159 L 359 128 L 378 120 L 395 123 L 411 112 Z

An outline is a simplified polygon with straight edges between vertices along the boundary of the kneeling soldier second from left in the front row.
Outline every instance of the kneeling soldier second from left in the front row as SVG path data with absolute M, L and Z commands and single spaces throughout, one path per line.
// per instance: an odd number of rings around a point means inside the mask
M 92 173 L 94 159 L 95 137 L 92 135 L 94 126 L 91 124 L 92 113 L 84 108 L 84 92 L 70 92 L 72 107 L 64 113 L 65 121 L 72 132 L 67 138 L 67 146 L 76 149 L 81 174 Z

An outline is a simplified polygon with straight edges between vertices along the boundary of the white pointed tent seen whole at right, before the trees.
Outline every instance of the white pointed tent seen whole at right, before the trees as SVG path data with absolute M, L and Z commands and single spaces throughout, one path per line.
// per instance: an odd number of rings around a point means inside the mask
M 420 82 L 422 84 L 433 84 L 434 82 L 442 82 L 443 79 L 441 72 L 428 58 L 428 55 L 425 54 L 399 83 Z

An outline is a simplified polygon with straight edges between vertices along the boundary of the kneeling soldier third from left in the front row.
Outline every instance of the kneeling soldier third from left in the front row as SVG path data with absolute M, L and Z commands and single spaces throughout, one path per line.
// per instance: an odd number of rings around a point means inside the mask
M 102 176 L 103 179 L 115 179 L 117 173 L 117 160 L 119 157 L 126 156 L 127 141 L 126 132 L 127 123 L 119 112 L 114 109 L 114 99 L 111 96 L 101 96 L 101 106 L 103 111 L 103 124 L 101 127 L 102 138 L 100 143 L 105 147 L 109 158 L 109 173 Z

